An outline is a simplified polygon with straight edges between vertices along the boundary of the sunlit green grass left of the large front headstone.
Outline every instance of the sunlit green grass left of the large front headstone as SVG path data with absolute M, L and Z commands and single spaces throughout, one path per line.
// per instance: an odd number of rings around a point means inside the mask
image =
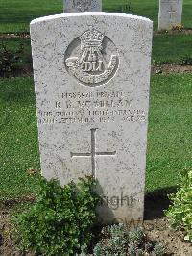
M 40 168 L 33 80 L 1 79 L 0 109 L 0 199 L 30 195 L 36 178 L 26 171 Z

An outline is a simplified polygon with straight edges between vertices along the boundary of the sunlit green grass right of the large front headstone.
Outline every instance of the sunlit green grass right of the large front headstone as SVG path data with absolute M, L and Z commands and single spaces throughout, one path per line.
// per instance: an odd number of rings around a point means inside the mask
M 192 75 L 152 78 L 146 190 L 174 186 L 192 167 Z

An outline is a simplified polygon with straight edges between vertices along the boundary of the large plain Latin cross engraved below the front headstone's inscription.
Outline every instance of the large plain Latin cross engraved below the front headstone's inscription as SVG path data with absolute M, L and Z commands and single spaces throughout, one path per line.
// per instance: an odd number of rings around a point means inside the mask
M 97 128 L 90 129 L 91 131 L 91 152 L 87 153 L 73 153 L 71 152 L 71 158 L 74 157 L 91 157 L 92 164 L 92 176 L 96 179 L 96 157 L 97 156 L 115 156 L 116 151 L 113 152 L 96 152 L 96 130 Z

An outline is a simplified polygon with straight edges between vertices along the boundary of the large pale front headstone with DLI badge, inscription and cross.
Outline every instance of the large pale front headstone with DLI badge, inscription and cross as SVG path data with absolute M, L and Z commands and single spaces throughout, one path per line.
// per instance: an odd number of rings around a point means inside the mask
M 42 175 L 98 179 L 104 222 L 143 218 L 152 32 L 119 13 L 31 23 Z

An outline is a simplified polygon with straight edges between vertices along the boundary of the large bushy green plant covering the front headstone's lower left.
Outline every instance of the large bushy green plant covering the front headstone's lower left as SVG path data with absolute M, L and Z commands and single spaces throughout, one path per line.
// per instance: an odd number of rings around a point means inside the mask
M 100 197 L 91 177 L 63 188 L 57 181 L 40 182 L 32 208 L 13 219 L 17 243 L 37 255 L 75 255 L 91 241 Z

